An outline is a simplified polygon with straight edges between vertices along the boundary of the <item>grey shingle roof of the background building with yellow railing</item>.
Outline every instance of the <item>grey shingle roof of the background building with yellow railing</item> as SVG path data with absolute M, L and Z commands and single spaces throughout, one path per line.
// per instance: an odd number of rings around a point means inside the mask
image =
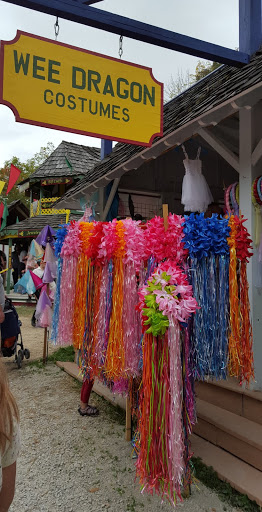
M 31 181 L 37 178 L 85 176 L 99 160 L 99 148 L 62 141 L 29 179 Z

